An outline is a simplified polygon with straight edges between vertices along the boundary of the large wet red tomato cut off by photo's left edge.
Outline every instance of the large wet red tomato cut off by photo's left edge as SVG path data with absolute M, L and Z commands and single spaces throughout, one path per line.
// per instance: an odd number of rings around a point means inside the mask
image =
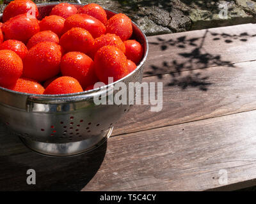
M 0 85 L 15 84 L 22 75 L 22 59 L 12 50 L 0 50 Z

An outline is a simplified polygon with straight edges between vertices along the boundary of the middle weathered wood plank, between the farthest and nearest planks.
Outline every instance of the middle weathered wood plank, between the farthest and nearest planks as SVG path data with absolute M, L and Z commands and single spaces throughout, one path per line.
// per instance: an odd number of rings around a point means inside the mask
M 150 112 L 150 105 L 134 106 L 115 126 L 113 135 L 254 110 L 255 67 L 256 61 L 250 61 L 182 71 L 175 77 L 143 78 L 145 82 L 163 82 L 163 110 Z

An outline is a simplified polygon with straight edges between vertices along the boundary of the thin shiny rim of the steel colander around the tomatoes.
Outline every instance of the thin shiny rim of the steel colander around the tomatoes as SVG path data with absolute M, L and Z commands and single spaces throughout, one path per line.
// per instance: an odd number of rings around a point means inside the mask
M 36 6 L 40 6 L 40 7 L 43 7 L 43 6 L 49 6 L 49 5 L 56 5 L 56 4 L 59 4 L 58 2 L 55 2 L 55 3 L 39 3 L 39 4 L 36 4 Z M 81 6 L 84 6 L 86 4 L 79 4 L 79 3 L 70 3 L 70 4 L 74 4 L 74 5 L 81 5 Z M 103 7 L 104 8 L 104 7 Z M 104 10 L 106 11 L 110 11 L 112 13 L 116 13 L 116 11 L 113 11 L 113 10 L 109 10 L 109 9 L 106 9 L 104 8 Z M 0 19 L 3 17 L 3 13 L 0 14 Z M 106 90 L 108 89 L 109 87 L 112 87 L 113 85 L 117 84 L 118 82 L 122 82 L 123 80 L 125 80 L 125 78 L 128 78 L 130 77 L 131 75 L 133 75 L 134 73 L 136 73 L 136 71 L 138 71 L 138 69 L 141 69 L 141 67 L 143 66 L 143 64 L 145 63 L 146 59 L 147 59 L 147 55 L 148 55 L 148 40 L 147 40 L 147 36 L 145 35 L 145 33 L 143 33 L 143 31 L 141 31 L 139 25 L 137 25 L 135 22 L 132 21 L 132 24 L 136 26 L 136 28 L 140 31 L 140 33 L 142 34 L 143 38 L 144 38 L 144 42 L 145 43 L 145 51 L 144 51 L 144 57 L 143 59 L 141 60 L 140 64 L 137 66 L 136 69 L 134 69 L 134 71 L 132 71 L 131 73 L 129 73 L 129 75 L 126 75 L 125 77 L 123 78 L 120 78 L 120 80 L 117 80 L 111 84 L 108 84 L 108 85 L 104 85 L 102 87 L 99 87 L 97 89 L 92 89 L 92 90 L 88 90 L 88 91 L 83 91 L 83 92 L 76 92 L 76 93 L 72 93 L 72 94 L 29 94 L 29 93 L 24 93 L 24 92 L 18 92 L 18 91 L 12 91 L 10 89 L 6 89 L 4 87 L 0 87 L 0 90 L 3 90 L 3 91 L 6 91 L 6 92 L 11 92 L 13 94 L 18 94 L 18 95 L 21 95 L 21 96 L 28 96 L 28 97 L 31 97 L 31 98 L 40 98 L 40 99 L 60 99 L 60 98 L 72 98 L 74 96 L 86 96 L 88 94 L 88 97 L 93 93 L 93 92 L 98 92 L 98 91 L 102 91 L 102 90 Z

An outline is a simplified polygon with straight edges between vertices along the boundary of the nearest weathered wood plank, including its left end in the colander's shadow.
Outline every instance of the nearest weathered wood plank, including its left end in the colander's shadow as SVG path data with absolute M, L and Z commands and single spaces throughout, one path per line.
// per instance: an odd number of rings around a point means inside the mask
M 115 136 L 109 138 L 107 151 L 105 143 L 89 154 L 70 158 L 31 152 L 1 126 L 0 189 L 77 191 L 85 186 L 84 191 L 203 191 L 250 187 L 256 177 L 255 122 L 256 111 L 252 111 Z M 35 186 L 26 184 L 30 168 L 36 170 Z M 218 182 L 223 169 L 228 173 L 227 185 Z

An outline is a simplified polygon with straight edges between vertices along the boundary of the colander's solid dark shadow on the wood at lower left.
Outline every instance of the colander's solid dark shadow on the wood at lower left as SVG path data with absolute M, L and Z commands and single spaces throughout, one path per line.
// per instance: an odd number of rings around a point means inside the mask
M 18 136 L 0 124 L 0 191 L 80 191 L 104 160 L 107 143 L 74 157 L 46 157 L 24 146 Z M 29 169 L 36 184 L 28 185 Z

